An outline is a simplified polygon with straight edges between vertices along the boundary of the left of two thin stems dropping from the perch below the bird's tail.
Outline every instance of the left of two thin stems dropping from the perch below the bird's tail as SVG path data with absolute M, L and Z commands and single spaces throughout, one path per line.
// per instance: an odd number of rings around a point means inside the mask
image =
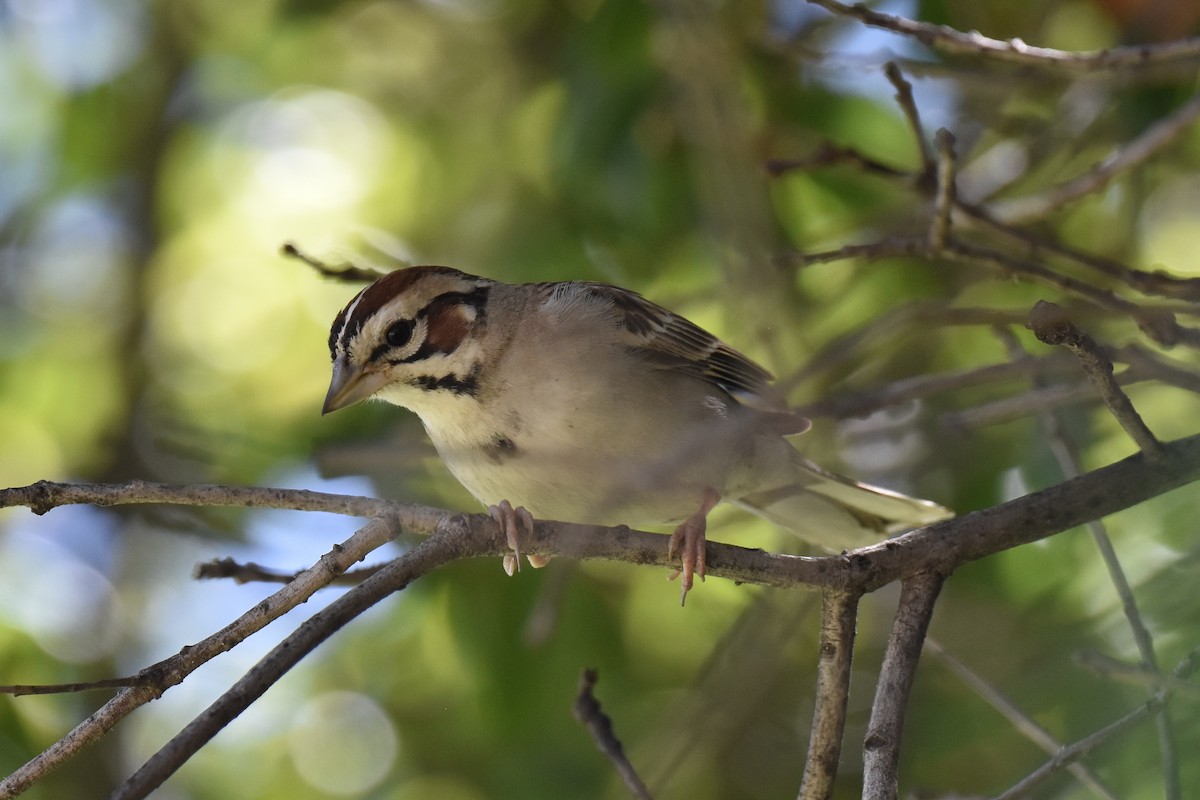
M 857 594 L 833 591 L 821 597 L 821 657 L 817 661 L 812 732 L 798 800 L 828 800 L 833 796 L 846 729 L 858 597 Z

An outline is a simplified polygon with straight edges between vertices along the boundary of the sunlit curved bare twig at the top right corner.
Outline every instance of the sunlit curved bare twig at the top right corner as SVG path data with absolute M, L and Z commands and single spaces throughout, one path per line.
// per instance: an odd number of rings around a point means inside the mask
M 1069 72 L 1092 73 L 1097 70 L 1141 67 L 1169 61 L 1192 61 L 1200 58 L 1200 38 L 1184 38 L 1162 44 L 1133 44 L 1104 50 L 1056 50 L 1048 47 L 1031 47 L 1019 38 L 1004 42 L 989 38 L 978 31 L 964 32 L 948 25 L 935 25 L 883 14 L 860 2 L 852 6 L 836 0 L 809 0 L 809 2 L 835 14 L 852 17 L 874 28 L 911 36 L 943 53 L 984 56 L 1031 67 L 1052 67 Z

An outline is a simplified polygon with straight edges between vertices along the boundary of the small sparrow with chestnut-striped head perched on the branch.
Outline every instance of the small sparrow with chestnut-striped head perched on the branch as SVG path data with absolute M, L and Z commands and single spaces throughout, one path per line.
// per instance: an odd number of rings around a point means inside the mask
M 674 524 L 685 602 L 720 501 L 830 552 L 953 516 L 809 461 L 796 437 L 811 422 L 767 369 L 620 287 L 408 266 L 342 308 L 329 351 L 322 414 L 367 398 L 414 411 L 499 524 L 510 575 L 534 518 Z

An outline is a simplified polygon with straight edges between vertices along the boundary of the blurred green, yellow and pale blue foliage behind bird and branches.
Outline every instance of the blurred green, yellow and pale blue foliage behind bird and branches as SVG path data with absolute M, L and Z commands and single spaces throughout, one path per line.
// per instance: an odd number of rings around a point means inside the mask
M 1200 17 L 1192 0 L 881 8 L 1068 49 L 1192 36 Z M 960 188 L 979 203 L 1086 170 L 1196 89 L 1194 62 L 1066 74 L 946 59 L 800 0 L 0 0 L 0 485 L 232 482 L 478 511 L 414 416 L 372 404 L 320 417 L 328 326 L 358 287 L 283 258 L 287 241 L 335 264 L 625 285 L 768 365 L 814 409 L 806 452 L 832 468 L 964 512 L 1058 482 L 1019 404 L 1032 386 L 1020 373 L 865 419 L 820 405 L 1007 362 L 992 323 L 1046 356 L 1020 320 L 1039 299 L 1070 302 L 961 264 L 788 258 L 928 228 L 929 199 L 904 176 L 851 162 L 768 169 L 833 144 L 919 170 L 888 60 L 912 80 L 926 132 L 958 137 Z M 1198 167 L 1200 131 L 1187 130 L 1031 230 L 1194 277 Z M 1141 341 L 1127 319 L 1079 312 L 1105 342 Z M 1195 368 L 1187 348 L 1170 357 Z M 996 405 L 1006 398 L 1015 410 Z M 1133 399 L 1160 438 L 1196 432 L 1193 395 L 1139 384 Z M 1063 417 L 1085 468 L 1133 452 L 1093 401 Z M 1200 642 L 1194 509 L 1182 489 L 1109 521 L 1168 668 Z M 718 519 L 713 539 L 806 552 L 766 523 Z M 131 674 L 271 591 L 197 583 L 196 563 L 296 570 L 355 527 L 293 512 L 2 512 L 0 682 Z M 454 565 L 334 637 L 155 796 L 625 796 L 571 718 L 584 667 L 599 669 L 596 693 L 656 795 L 794 796 L 817 599 L 713 579 L 680 609 L 665 577 L 554 561 L 508 579 L 498 561 Z M 28 796 L 107 795 L 336 591 Z M 842 796 L 860 788 L 894 602 L 892 589 L 863 602 Z M 1138 661 L 1086 531 L 960 570 L 932 634 L 1063 741 L 1145 699 L 1078 663 Z M 0 698 L 0 772 L 107 697 Z M 1175 705 L 1181 753 L 1200 747 L 1198 710 L 1195 694 Z M 905 787 L 992 794 L 1045 758 L 926 655 Z M 1162 796 L 1152 724 L 1093 768 L 1118 796 Z M 1196 759 L 1181 769 L 1200 786 Z M 1103 796 L 1067 777 L 1044 792 Z

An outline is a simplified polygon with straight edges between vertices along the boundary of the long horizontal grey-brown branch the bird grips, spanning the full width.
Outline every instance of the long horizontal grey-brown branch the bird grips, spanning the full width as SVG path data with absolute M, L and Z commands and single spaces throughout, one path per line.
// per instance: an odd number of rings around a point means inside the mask
M 1088 519 L 1097 519 L 1138 505 L 1195 480 L 1200 480 L 1200 434 L 1163 445 L 1160 458 L 1146 459 L 1140 453 L 1134 455 L 1078 479 L 1026 494 L 985 511 L 947 519 L 878 545 L 858 548 L 845 558 L 784 555 L 709 541 L 707 571 L 709 576 L 760 585 L 874 591 L 920 571 L 953 570 L 967 561 L 1045 539 Z M 125 503 L 151 501 L 146 497 L 131 495 L 128 483 L 82 486 L 88 491 L 80 492 L 79 487 L 73 485 L 47 481 L 0 489 L 0 507 L 36 505 L 44 512 L 68 503 L 112 505 L 115 497 L 124 498 L 121 501 Z M 172 487 L 163 483 L 143 483 L 143 486 L 146 487 L 146 494 L 155 498 L 152 500 L 155 503 L 168 503 L 172 489 L 175 489 L 181 503 L 196 504 L 192 487 Z M 236 487 L 206 488 L 214 492 L 222 488 L 236 489 Z M 263 492 L 262 495 L 253 495 L 253 503 L 265 507 L 269 501 L 264 498 L 275 491 Z M 293 493 L 284 494 L 287 497 L 278 503 L 281 507 L 290 507 Z M 318 493 L 308 494 L 318 495 Z M 224 495 L 215 492 L 214 497 Z M 346 498 L 341 495 L 325 497 L 332 498 L 331 505 L 346 504 Z M 250 498 L 244 500 L 250 501 Z M 364 504 L 382 503 L 370 498 L 362 500 Z M 400 519 L 406 533 L 413 534 L 432 533 L 449 513 L 442 509 L 402 503 L 389 504 L 386 507 L 385 516 Z M 469 515 L 466 518 L 472 525 L 486 527 L 496 534 L 496 525 L 487 516 Z M 667 539 L 662 534 L 624 527 L 602 528 L 536 521 L 526 549 L 536 555 L 566 555 L 580 560 L 604 559 L 670 567 L 665 543 Z M 503 555 L 504 552 L 506 547 L 503 536 L 497 534 L 490 554 Z M 280 591 L 294 585 L 295 582 Z

